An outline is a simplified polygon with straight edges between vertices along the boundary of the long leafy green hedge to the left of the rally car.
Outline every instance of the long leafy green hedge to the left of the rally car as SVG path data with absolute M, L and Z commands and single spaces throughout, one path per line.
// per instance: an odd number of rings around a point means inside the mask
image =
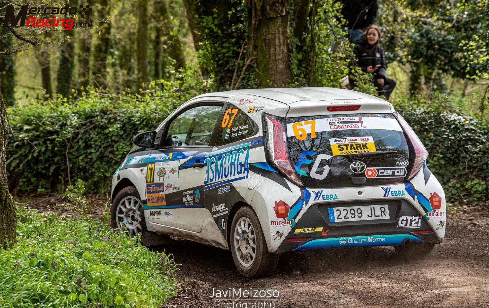
M 23 191 L 61 191 L 81 178 L 89 193 L 108 189 L 108 179 L 133 147 L 132 137 L 153 130 L 170 112 L 210 84 L 191 70 L 174 82 L 153 83 L 142 96 L 74 93 L 14 106 L 8 113 L 14 133 L 7 148 L 11 186 Z M 80 97 L 77 98 L 77 95 Z

